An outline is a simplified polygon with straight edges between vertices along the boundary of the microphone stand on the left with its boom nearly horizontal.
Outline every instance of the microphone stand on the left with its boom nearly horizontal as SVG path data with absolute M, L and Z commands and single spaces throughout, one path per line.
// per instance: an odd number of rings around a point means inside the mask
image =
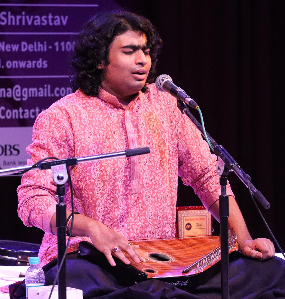
M 8 169 L 1 169 L 0 176 L 15 174 L 22 171 L 28 170 L 52 170 L 52 176 L 54 182 L 57 184 L 57 190 L 55 194 L 55 199 L 58 200 L 56 206 L 56 226 L 57 226 L 57 265 L 60 266 L 60 263 L 63 261 L 63 265 L 60 269 L 58 276 L 58 298 L 66 299 L 66 256 L 65 252 L 65 242 L 66 242 L 66 205 L 64 203 L 65 195 L 65 186 L 64 184 L 68 180 L 67 166 L 75 166 L 79 163 L 86 163 L 91 161 L 99 161 L 112 158 L 120 157 L 130 157 L 136 155 L 148 154 L 150 152 L 149 147 L 142 147 L 137 149 L 126 149 L 122 152 L 112 152 L 107 154 L 95 155 L 95 156 L 86 156 L 82 158 L 67 158 L 67 159 L 58 159 L 53 161 L 45 161 L 39 164 L 27 165 L 22 167 L 14 167 Z

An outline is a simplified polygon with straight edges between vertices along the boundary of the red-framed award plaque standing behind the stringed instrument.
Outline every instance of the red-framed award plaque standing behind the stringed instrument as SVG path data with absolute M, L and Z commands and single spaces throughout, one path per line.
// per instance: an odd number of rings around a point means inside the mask
M 212 231 L 212 215 L 204 206 L 176 208 L 178 237 L 208 236 Z

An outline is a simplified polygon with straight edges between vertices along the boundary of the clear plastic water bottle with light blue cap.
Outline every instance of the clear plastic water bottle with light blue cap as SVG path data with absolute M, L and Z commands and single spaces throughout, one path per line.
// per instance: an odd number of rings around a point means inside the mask
M 42 267 L 39 266 L 39 257 L 30 257 L 30 267 L 25 275 L 26 299 L 28 298 L 28 289 L 34 286 L 45 285 L 45 274 Z

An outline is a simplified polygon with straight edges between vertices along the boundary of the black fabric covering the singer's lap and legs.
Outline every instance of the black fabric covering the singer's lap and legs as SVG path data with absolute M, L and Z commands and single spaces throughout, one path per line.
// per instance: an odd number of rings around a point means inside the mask
M 57 260 L 43 267 L 45 285 L 51 285 L 57 273 Z M 107 271 L 69 254 L 66 267 L 67 286 L 82 289 L 83 298 L 134 299 L 220 299 L 220 273 L 207 283 L 191 290 L 180 290 L 159 280 L 147 280 L 129 287 L 121 286 Z M 285 298 L 285 261 L 278 257 L 260 262 L 240 257 L 229 265 L 231 299 Z M 10 298 L 25 298 L 25 284 L 9 288 Z

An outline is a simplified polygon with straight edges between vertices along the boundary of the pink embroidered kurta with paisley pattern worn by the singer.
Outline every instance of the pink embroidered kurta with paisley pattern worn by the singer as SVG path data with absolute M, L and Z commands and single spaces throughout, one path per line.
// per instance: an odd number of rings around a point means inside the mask
M 154 84 L 126 108 L 103 89 L 98 97 L 77 90 L 58 100 L 36 119 L 28 164 L 48 156 L 84 157 L 137 147 L 150 147 L 150 154 L 71 168 L 75 211 L 127 239 L 173 237 L 177 175 L 208 209 L 220 194 L 217 158 L 178 110 L 176 99 Z M 45 231 L 39 252 L 42 265 L 57 257 L 57 236 L 51 234 L 55 191 L 51 170 L 26 173 L 18 187 L 20 218 Z M 233 195 L 230 187 L 227 192 Z M 71 210 L 67 184 L 65 202 Z M 68 252 L 77 250 L 82 240 L 89 238 L 71 238 Z

